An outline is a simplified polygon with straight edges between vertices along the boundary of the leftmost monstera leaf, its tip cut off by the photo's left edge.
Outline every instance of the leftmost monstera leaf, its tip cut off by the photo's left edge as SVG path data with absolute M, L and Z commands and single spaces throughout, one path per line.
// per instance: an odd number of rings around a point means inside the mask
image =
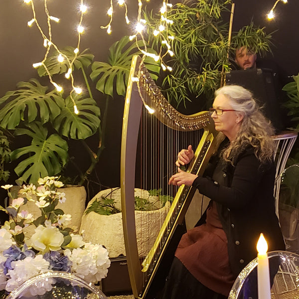
M 19 82 L 18 90 L 8 91 L 0 98 L 5 103 L 0 110 L 0 126 L 15 129 L 21 121 L 28 123 L 39 119 L 42 124 L 60 114 L 64 99 L 56 90 L 47 93 L 48 87 L 42 86 L 36 79 Z

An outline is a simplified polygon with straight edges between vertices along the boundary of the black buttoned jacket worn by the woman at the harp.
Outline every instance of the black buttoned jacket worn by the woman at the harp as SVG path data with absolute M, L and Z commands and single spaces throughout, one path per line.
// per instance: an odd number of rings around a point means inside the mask
M 260 233 L 267 240 L 268 251 L 285 250 L 273 196 L 275 164 L 261 165 L 253 148 L 235 157 L 234 166 L 219 158 L 212 164 L 213 178 L 197 177 L 193 186 L 216 202 L 227 235 L 231 269 L 237 277 L 257 257 Z M 206 212 L 198 225 L 205 219 Z

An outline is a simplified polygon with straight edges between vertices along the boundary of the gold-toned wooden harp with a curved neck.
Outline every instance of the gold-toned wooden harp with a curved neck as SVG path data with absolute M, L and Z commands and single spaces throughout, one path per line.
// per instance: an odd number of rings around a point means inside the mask
M 126 256 L 128 262 L 129 276 L 132 286 L 132 291 L 135 298 L 151 298 L 151 288 L 155 284 L 154 278 L 158 276 L 159 268 L 161 268 L 162 260 L 167 257 L 167 248 L 171 247 L 171 240 L 174 238 L 176 228 L 183 223 L 184 214 L 193 197 L 195 188 L 185 185 L 177 187 L 169 187 L 167 185 L 168 178 L 176 171 L 175 157 L 179 149 L 169 148 L 172 144 L 170 139 L 162 137 L 166 140 L 167 152 L 166 158 L 161 158 L 163 150 L 160 149 L 160 144 L 153 142 L 153 149 L 150 149 L 150 154 L 157 157 L 155 164 L 160 167 L 162 160 L 166 160 L 168 168 L 166 175 L 157 175 L 160 182 L 160 188 L 165 190 L 166 194 L 173 192 L 172 204 L 169 208 L 165 220 L 161 224 L 160 231 L 154 241 L 153 246 L 149 250 L 146 258 L 141 261 L 138 252 L 136 224 L 135 224 L 135 188 L 139 184 L 142 174 L 138 174 L 138 179 L 135 178 L 136 171 L 139 166 L 136 163 L 136 156 L 138 150 L 144 147 L 138 145 L 141 139 L 140 125 L 144 122 L 142 110 L 145 106 L 149 106 L 154 110 L 151 119 L 158 120 L 162 129 L 158 129 L 160 135 L 163 135 L 163 130 L 170 130 L 175 132 L 193 132 L 199 129 L 204 129 L 200 141 L 197 143 L 198 147 L 194 153 L 187 171 L 202 175 L 208 160 L 216 149 L 216 132 L 214 130 L 213 122 L 211 122 L 208 112 L 199 112 L 193 115 L 183 115 L 176 111 L 163 97 L 154 81 L 150 78 L 149 72 L 143 64 L 141 57 L 134 56 L 132 60 L 129 83 L 127 88 L 123 132 L 122 132 L 122 146 L 121 146 L 121 197 L 122 197 L 122 213 L 123 213 L 123 229 Z M 146 113 L 149 115 L 149 113 Z M 150 121 L 151 124 L 152 120 Z M 147 124 L 147 122 L 145 122 Z M 159 128 L 160 128 L 159 127 Z M 151 131 L 149 127 L 147 132 Z M 161 133 L 162 132 L 162 133 Z M 198 134 L 197 134 L 198 135 Z M 177 135 L 179 136 L 179 135 Z M 176 137 L 177 138 L 177 137 Z M 147 140 L 147 139 L 146 139 Z M 158 148 L 158 150 L 157 150 Z M 144 149 L 142 149 L 144 150 Z M 170 155 L 174 154 L 174 158 Z M 148 154 L 149 156 L 149 154 Z M 153 168 L 153 164 L 148 162 L 149 157 L 145 160 L 145 167 Z M 161 167 L 163 168 L 163 167 Z M 154 175 L 155 176 L 155 175 Z M 165 179 L 166 176 L 166 179 Z M 166 180 L 166 182 L 165 182 Z M 147 181 L 147 180 L 146 180 Z M 140 187 L 140 186 L 139 186 Z M 146 240 L 145 240 L 146 242 Z M 165 267 L 164 267 L 165 268 Z

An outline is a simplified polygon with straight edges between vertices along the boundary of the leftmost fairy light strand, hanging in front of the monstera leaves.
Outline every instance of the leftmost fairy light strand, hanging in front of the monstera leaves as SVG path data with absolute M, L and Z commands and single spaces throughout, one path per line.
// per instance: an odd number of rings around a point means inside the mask
M 69 58 L 59 50 L 59 48 L 55 45 L 55 43 L 53 43 L 51 21 L 59 22 L 60 19 L 56 16 L 52 16 L 49 13 L 48 6 L 47 6 L 47 0 L 44 0 L 44 9 L 45 9 L 45 14 L 47 16 L 48 37 L 43 32 L 43 30 L 42 30 L 41 26 L 39 25 L 39 22 L 36 18 L 36 12 L 35 12 L 35 7 L 34 7 L 33 0 L 24 0 L 24 2 L 27 3 L 27 4 L 29 4 L 29 3 L 31 4 L 31 9 L 32 9 L 32 13 L 33 13 L 33 18 L 30 21 L 28 21 L 27 24 L 28 24 L 28 26 L 32 26 L 34 23 L 36 24 L 36 26 L 37 26 L 37 28 L 38 28 L 38 30 L 39 30 L 42 38 L 43 38 L 43 45 L 46 48 L 46 52 L 45 52 L 43 60 L 41 62 L 33 63 L 32 66 L 34 68 L 38 68 L 40 66 L 43 66 L 46 73 L 47 73 L 47 76 L 49 77 L 49 80 L 50 80 L 51 84 L 57 89 L 58 92 L 62 92 L 62 90 L 63 90 L 62 87 L 59 86 L 56 82 L 53 81 L 53 78 L 52 78 L 47 66 L 45 65 L 45 61 L 48 58 L 48 54 L 50 52 L 51 47 L 53 47 L 58 53 L 58 56 L 57 56 L 58 63 L 62 63 L 65 59 L 67 60 L 68 70 L 65 73 L 65 77 L 67 79 L 70 79 L 70 83 L 71 83 L 71 86 L 72 86 L 72 90 L 70 92 L 70 98 L 71 98 L 71 100 L 73 102 L 73 105 L 74 105 L 74 112 L 76 114 L 78 114 L 79 112 L 78 112 L 75 100 L 73 98 L 73 93 L 76 92 L 76 93 L 80 94 L 80 93 L 82 93 L 82 89 L 80 87 L 76 87 L 74 85 L 74 76 L 73 76 L 73 72 L 72 72 L 72 67 L 73 67 L 74 61 L 77 58 L 78 53 L 79 53 L 81 34 L 84 32 L 84 27 L 82 26 L 83 15 L 87 11 L 87 6 L 83 3 L 83 0 L 80 0 L 81 14 L 80 14 L 80 21 L 79 21 L 79 24 L 77 26 L 78 42 L 77 42 L 77 47 L 74 50 L 75 55 L 74 55 L 73 59 L 70 61 Z

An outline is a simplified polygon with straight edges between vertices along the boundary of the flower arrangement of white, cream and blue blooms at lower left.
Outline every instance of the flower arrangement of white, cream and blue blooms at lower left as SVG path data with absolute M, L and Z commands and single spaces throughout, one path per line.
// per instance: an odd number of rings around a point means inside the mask
M 62 186 L 57 176 L 40 178 L 38 186 L 23 185 L 11 192 L 12 185 L 1 186 L 7 189 L 11 202 L 5 208 L 0 206 L 10 216 L 0 228 L 2 292 L 11 292 L 27 279 L 48 271 L 73 273 L 89 283 L 107 276 L 110 260 L 106 248 L 85 243 L 75 229 L 67 227 L 71 215 L 56 208 L 58 202 L 66 200 L 65 194 L 57 191 Z M 34 201 L 39 208 L 37 219 L 25 210 L 27 201 Z M 28 228 L 33 231 L 31 236 Z

